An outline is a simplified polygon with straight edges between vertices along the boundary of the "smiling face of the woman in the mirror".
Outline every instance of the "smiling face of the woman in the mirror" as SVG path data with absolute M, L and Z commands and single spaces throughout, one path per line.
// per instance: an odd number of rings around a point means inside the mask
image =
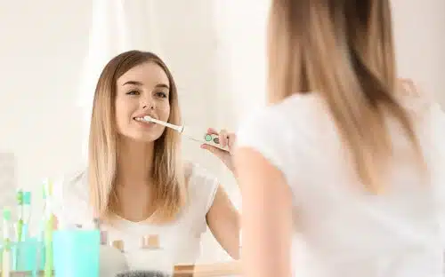
M 170 116 L 169 82 L 166 72 L 154 62 L 133 67 L 117 79 L 117 131 L 128 139 L 152 142 L 165 127 L 138 121 L 144 115 L 167 122 Z

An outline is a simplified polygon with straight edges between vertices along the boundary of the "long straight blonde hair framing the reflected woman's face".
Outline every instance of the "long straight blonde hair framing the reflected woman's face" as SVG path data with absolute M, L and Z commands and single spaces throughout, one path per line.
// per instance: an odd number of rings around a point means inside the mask
M 126 51 L 111 59 L 103 68 L 96 86 L 91 117 L 88 181 L 94 215 L 110 221 L 118 206 L 116 194 L 117 135 L 115 98 L 117 79 L 129 69 L 145 62 L 162 67 L 169 80 L 169 123 L 180 124 L 181 113 L 174 78 L 166 64 L 147 51 Z M 186 201 L 185 180 L 181 161 L 181 140 L 177 132 L 166 129 L 156 140 L 153 154 L 153 205 L 157 207 L 154 221 L 174 218 Z M 147 169 L 150 170 L 150 169 Z M 151 219 L 150 218 L 150 219 Z

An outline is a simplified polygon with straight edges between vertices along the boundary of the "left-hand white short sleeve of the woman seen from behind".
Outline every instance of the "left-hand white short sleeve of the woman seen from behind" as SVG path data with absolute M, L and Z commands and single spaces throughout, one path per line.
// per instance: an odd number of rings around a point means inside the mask
M 287 119 L 271 107 L 255 111 L 248 116 L 237 131 L 237 148 L 249 147 L 263 155 L 287 181 L 292 177 L 295 149 L 291 147 L 294 134 Z M 295 168 L 294 168 L 295 170 Z

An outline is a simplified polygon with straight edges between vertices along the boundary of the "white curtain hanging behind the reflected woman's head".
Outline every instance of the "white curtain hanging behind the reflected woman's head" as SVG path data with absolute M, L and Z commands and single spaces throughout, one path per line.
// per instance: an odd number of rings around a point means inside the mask
M 84 115 L 84 155 L 95 85 L 109 59 L 128 50 L 160 52 L 153 0 L 93 0 L 88 52 L 80 80 L 79 105 Z

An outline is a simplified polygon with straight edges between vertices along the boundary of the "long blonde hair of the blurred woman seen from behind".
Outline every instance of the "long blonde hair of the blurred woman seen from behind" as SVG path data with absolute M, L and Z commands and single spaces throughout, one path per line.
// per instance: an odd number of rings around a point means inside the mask
M 388 0 L 272 0 L 268 54 L 269 102 L 320 93 L 368 190 L 382 189 L 392 152 L 385 114 L 401 123 L 420 157 L 396 97 Z

